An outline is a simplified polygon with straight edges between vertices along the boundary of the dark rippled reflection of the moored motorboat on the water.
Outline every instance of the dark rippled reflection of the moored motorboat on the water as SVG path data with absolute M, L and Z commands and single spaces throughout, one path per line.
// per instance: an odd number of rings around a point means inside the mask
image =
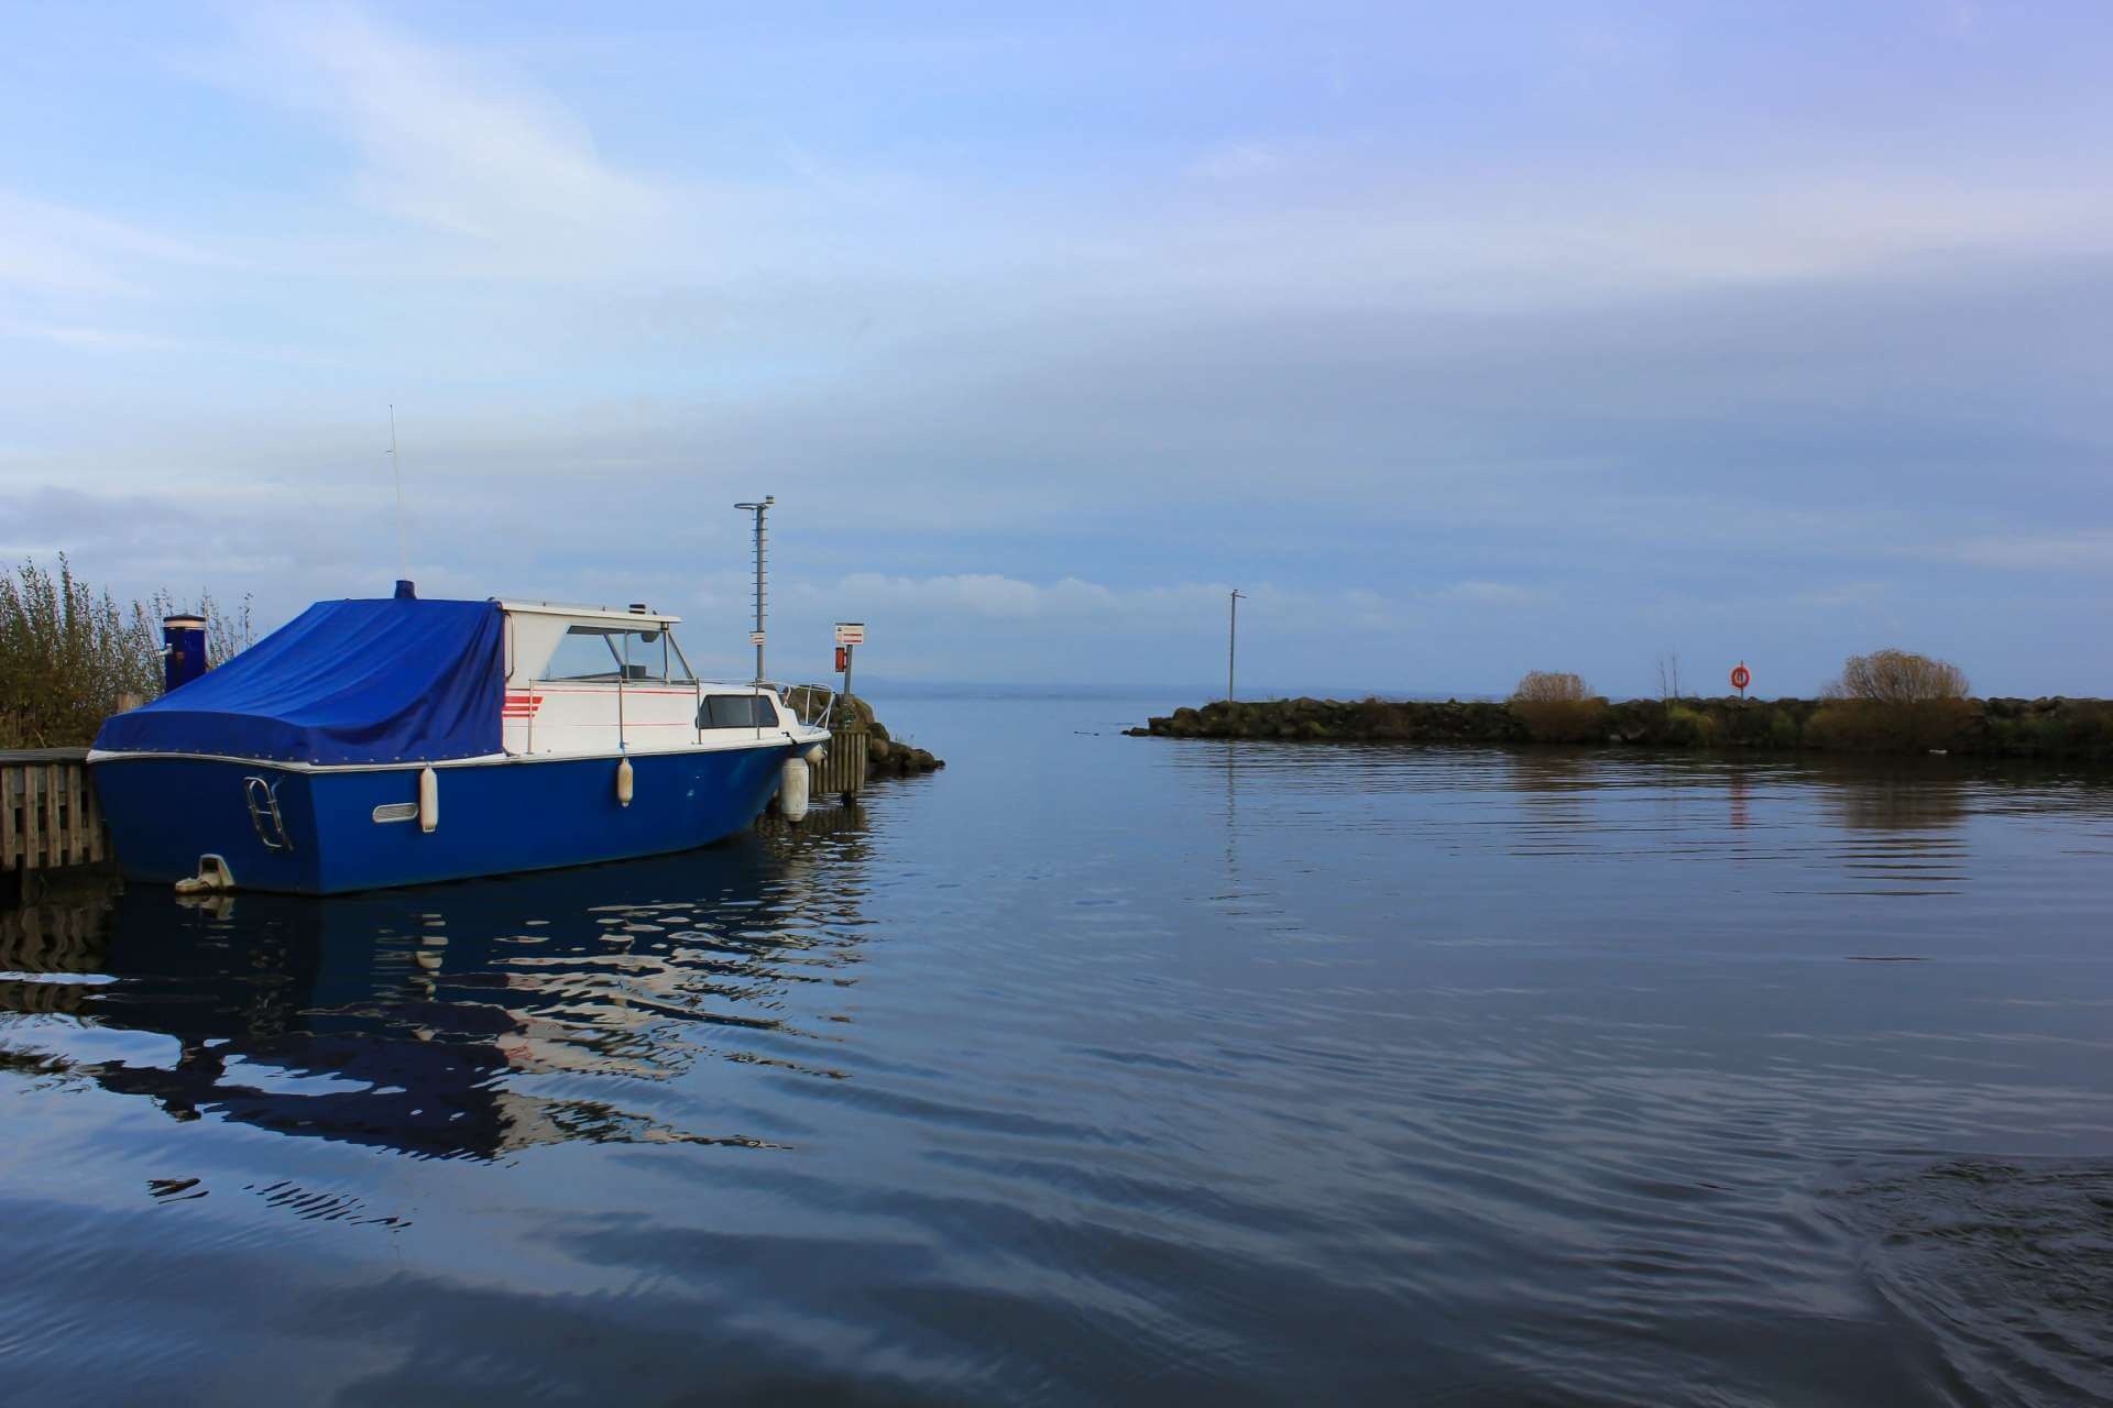
M 759 1045 L 786 1070 L 830 1074 L 826 1047 L 803 1058 L 811 1032 L 786 1017 L 784 994 L 858 960 L 858 868 L 843 863 L 862 851 L 854 819 L 835 815 L 833 834 L 748 834 L 680 857 L 328 903 L 133 887 L 25 912 L 0 929 L 0 969 L 15 973 L 0 982 L 0 1013 L 158 1032 L 175 1051 L 63 1062 L 27 1049 L 38 1028 L 23 1028 L 6 1055 L 177 1119 L 429 1157 L 564 1140 L 765 1142 L 581 1091 L 609 1077 L 632 1104 L 651 1089 L 638 1079 L 680 1077 L 699 1058 L 759 1060 Z M 826 887 L 809 880 L 818 846 Z

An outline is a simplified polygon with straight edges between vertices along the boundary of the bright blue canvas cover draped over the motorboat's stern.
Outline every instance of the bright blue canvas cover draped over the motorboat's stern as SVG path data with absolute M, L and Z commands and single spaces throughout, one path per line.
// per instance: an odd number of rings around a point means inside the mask
M 497 754 L 497 602 L 317 602 L 226 665 L 104 722 L 108 751 L 266 762 L 433 762 Z

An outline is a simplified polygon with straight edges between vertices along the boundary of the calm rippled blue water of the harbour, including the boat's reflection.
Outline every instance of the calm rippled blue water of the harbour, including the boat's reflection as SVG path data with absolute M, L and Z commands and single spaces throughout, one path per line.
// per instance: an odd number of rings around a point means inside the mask
M 23 1402 L 2113 1402 L 2113 787 L 1124 739 L 0 914 Z

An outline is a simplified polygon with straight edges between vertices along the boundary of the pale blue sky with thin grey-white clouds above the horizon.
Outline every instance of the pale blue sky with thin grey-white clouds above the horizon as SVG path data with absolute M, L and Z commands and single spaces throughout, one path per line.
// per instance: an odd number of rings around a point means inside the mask
M 2113 695 L 2113 6 L 0 6 L 0 562 L 902 682 Z

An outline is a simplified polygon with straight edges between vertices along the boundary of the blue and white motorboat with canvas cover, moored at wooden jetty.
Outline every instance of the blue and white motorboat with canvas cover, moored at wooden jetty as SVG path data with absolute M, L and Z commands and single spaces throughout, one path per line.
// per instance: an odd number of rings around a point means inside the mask
M 118 868 L 334 895 L 687 851 L 805 804 L 828 692 L 708 684 L 680 616 L 317 602 L 104 722 Z

